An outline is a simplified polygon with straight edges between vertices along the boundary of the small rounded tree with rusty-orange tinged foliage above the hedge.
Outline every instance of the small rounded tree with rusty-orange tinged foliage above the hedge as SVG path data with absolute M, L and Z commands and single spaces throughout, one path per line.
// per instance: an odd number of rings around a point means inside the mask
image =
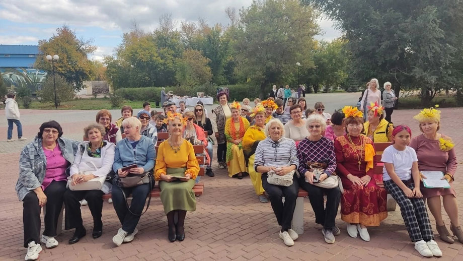
M 210 83 L 212 73 L 207 66 L 209 59 L 197 50 L 185 50 L 182 58 L 177 62 L 175 75 L 177 81 L 184 86 L 195 86 Z

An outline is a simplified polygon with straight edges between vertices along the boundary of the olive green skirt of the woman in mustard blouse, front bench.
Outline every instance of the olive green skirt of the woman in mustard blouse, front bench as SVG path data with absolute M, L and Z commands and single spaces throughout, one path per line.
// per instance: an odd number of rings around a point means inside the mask
M 174 177 L 184 177 L 186 168 L 167 168 L 167 174 Z M 164 213 L 173 210 L 196 210 L 196 197 L 193 191 L 195 180 L 175 180 L 172 182 L 159 181 L 161 188 L 161 202 L 164 206 Z

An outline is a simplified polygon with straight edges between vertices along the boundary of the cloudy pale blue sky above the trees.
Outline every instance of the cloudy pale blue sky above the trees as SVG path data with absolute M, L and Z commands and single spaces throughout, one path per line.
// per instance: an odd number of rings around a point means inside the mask
M 78 37 L 92 39 L 98 50 L 92 59 L 111 54 L 132 22 L 145 31 L 157 28 L 162 14 L 180 21 L 199 17 L 213 25 L 228 24 L 227 7 L 249 7 L 252 0 L 0 0 L 0 44 L 34 44 L 48 39 L 63 24 Z M 340 36 L 329 20 L 321 18 L 322 35 L 332 40 Z

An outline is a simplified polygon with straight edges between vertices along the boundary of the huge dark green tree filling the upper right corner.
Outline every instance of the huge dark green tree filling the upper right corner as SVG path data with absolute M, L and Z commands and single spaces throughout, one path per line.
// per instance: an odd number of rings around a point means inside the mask
M 353 73 L 421 89 L 429 105 L 461 83 L 463 2 L 459 0 L 303 0 L 323 10 L 348 40 Z

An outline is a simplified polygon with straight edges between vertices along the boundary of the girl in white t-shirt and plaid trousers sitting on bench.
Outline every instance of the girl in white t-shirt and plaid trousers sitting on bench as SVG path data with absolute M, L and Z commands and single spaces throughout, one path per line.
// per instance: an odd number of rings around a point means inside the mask
M 406 125 L 396 126 L 392 133 L 394 144 L 382 153 L 384 188 L 400 206 L 407 231 L 415 249 L 423 256 L 442 256 L 429 222 L 423 194 L 420 191 L 418 158 L 409 147 L 412 131 Z M 417 186 L 415 186 L 417 184 Z

